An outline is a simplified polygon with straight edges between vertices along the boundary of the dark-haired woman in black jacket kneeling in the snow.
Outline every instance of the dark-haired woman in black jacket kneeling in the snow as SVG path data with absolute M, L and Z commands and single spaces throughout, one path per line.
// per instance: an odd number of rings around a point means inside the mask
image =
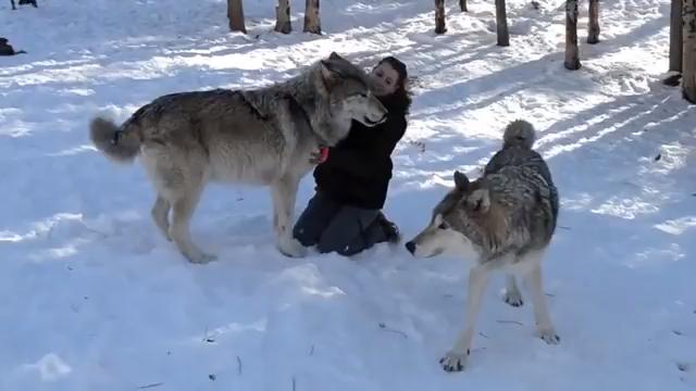
M 294 228 L 304 247 L 353 255 L 380 242 L 400 240 L 382 207 L 391 179 L 391 152 L 403 137 L 411 99 L 407 68 L 388 56 L 370 74 L 373 93 L 389 111 L 375 127 L 353 121 L 346 139 L 314 169 L 315 194 Z

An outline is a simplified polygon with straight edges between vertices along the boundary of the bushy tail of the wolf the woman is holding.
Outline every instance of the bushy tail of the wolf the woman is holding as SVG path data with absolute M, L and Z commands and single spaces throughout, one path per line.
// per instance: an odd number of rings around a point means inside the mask
M 109 159 L 129 163 L 140 152 L 140 136 L 130 127 L 122 129 L 110 119 L 97 117 L 89 124 L 89 138 Z

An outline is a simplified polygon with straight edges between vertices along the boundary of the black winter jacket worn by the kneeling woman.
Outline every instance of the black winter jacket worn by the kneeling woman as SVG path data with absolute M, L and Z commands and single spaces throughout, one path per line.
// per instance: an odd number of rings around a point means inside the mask
M 382 209 L 391 179 L 391 152 L 406 125 L 399 112 L 389 112 L 375 127 L 353 121 L 348 137 L 331 148 L 328 159 L 314 168 L 316 191 L 347 205 Z

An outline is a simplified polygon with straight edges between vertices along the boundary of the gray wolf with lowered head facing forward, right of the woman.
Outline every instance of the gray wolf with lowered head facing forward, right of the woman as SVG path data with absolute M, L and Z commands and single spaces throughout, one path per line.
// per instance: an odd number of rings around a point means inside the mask
M 467 364 L 476 317 L 489 274 L 507 273 L 505 301 L 522 305 L 515 276 L 523 277 L 532 294 L 539 337 L 549 344 L 560 339 L 546 306 L 542 260 L 556 230 L 558 191 L 544 159 L 532 150 L 534 127 L 510 123 L 502 149 L 486 165 L 484 175 L 469 181 L 455 173 L 455 189 L 435 206 L 430 225 L 406 248 L 417 257 L 442 253 L 472 261 L 464 329 L 440 360 L 447 371 Z

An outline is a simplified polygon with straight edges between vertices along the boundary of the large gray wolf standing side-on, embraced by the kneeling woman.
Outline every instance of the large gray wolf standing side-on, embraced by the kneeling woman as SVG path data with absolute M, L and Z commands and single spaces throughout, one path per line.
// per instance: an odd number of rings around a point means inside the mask
M 374 126 L 386 114 L 370 92 L 366 74 L 332 53 L 298 76 L 264 88 L 163 96 L 121 126 L 97 117 L 90 137 L 116 162 L 140 155 L 158 192 L 152 218 L 190 262 L 215 258 L 194 244 L 189 234 L 209 181 L 270 186 L 277 247 L 288 256 L 302 256 L 291 224 L 297 188 L 312 168 L 312 154 L 345 138 L 352 119 Z

